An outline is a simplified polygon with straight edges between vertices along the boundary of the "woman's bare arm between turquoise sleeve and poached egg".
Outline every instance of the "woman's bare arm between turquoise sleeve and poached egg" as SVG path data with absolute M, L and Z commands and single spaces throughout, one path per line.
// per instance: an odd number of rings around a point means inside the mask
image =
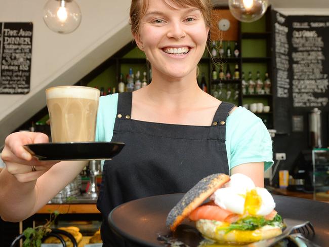
M 257 187 L 264 188 L 264 162 L 239 164 L 231 169 L 231 175 L 235 173 L 250 177 Z

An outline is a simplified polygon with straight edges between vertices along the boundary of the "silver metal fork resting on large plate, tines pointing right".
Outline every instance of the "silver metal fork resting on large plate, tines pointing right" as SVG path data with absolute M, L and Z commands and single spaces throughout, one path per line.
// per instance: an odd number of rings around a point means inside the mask
M 286 238 L 289 236 L 293 231 L 298 230 L 301 231 L 303 230 L 304 233 L 310 234 L 310 230 L 312 231 L 313 234 L 315 234 L 314 227 L 311 222 L 309 221 L 301 221 L 301 220 L 294 220 L 294 219 L 283 219 L 283 223 L 286 225 L 286 228 L 282 232 L 282 234 L 272 237 L 266 240 L 261 240 L 258 242 L 250 243 L 247 245 L 244 245 L 245 247 L 270 247 L 273 246 L 275 243 L 279 242 L 280 240 Z

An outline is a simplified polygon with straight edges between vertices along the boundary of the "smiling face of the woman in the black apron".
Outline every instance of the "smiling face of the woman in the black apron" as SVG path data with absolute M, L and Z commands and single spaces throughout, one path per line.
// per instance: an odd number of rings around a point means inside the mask
M 149 0 L 137 44 L 151 62 L 153 75 L 156 72 L 172 78 L 196 75 L 209 28 L 198 9 L 173 7 L 161 0 Z

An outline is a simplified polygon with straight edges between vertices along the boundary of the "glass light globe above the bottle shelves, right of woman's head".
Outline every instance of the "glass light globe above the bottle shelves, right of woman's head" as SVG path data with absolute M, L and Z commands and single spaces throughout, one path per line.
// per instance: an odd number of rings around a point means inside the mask
M 268 0 L 229 0 L 228 6 L 237 20 L 253 22 L 265 14 Z

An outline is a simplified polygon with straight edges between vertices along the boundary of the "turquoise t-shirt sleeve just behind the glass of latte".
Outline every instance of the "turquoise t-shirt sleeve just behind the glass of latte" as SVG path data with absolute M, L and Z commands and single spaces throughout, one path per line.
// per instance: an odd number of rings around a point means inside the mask
M 110 142 L 112 140 L 117 99 L 117 94 L 99 98 L 95 135 L 95 141 L 97 142 Z

